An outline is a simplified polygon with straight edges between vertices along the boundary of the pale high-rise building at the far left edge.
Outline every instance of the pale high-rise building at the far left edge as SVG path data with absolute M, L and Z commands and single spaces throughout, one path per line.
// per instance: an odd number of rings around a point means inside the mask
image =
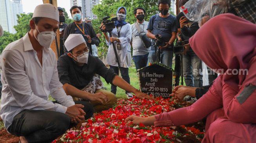
M 23 13 L 21 0 L 0 0 L 0 24 L 5 31 L 16 33 L 17 14 Z

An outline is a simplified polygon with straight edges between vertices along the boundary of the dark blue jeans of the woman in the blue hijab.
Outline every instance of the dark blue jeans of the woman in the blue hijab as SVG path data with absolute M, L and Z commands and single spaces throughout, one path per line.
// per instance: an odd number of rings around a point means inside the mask
M 111 65 L 109 65 L 109 66 L 110 66 L 110 68 L 113 68 L 114 72 L 117 75 L 119 75 L 119 69 L 117 66 L 111 66 Z M 120 71 L 121 71 L 121 76 L 122 76 L 123 80 L 125 80 L 126 82 L 128 82 L 130 84 L 129 68 L 120 67 Z M 111 92 L 116 95 L 116 86 L 113 84 L 111 84 Z M 125 91 L 125 93 L 129 93 L 129 91 Z

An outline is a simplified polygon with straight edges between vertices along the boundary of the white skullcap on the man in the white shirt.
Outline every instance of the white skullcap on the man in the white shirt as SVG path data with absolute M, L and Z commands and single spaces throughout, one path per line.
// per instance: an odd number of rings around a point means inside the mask
M 59 11 L 52 4 L 37 5 L 36 8 L 34 9 L 34 14 L 33 14 L 32 18 L 34 18 L 34 17 L 51 18 L 53 20 L 60 22 Z

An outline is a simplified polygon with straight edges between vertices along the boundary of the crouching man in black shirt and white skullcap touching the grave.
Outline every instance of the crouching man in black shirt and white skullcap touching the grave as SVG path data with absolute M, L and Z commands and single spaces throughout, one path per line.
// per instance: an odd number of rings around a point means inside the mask
M 81 34 L 70 34 L 64 43 L 68 53 L 58 59 L 60 82 L 67 95 L 80 100 L 89 100 L 95 112 L 111 108 L 117 98 L 110 91 L 102 90 L 102 82 L 95 73 L 102 76 L 108 83 L 130 91 L 138 98 L 152 99 L 149 95 L 133 88 L 125 80 L 108 69 L 100 59 L 89 54 L 89 49 Z

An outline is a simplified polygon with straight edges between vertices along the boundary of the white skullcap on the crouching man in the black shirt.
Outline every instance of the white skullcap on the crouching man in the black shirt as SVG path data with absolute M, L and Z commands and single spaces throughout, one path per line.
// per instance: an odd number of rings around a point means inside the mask
M 69 34 L 64 45 L 67 51 L 72 50 L 74 47 L 85 43 L 84 37 L 81 34 Z

